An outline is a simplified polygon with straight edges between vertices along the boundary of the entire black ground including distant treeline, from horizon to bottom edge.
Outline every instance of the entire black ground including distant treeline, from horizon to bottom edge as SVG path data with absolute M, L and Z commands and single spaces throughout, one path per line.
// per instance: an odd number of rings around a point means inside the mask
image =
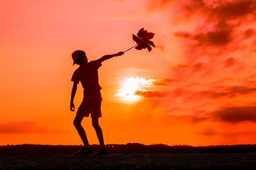
M 114 147 L 113 147 L 114 146 Z M 129 149 L 129 147 L 137 149 Z M 142 147 L 138 147 L 142 146 Z M 161 147 L 159 147 L 161 146 Z M 169 148 L 168 153 L 159 148 Z M 97 145 L 93 150 L 97 151 Z M 127 149 L 128 147 L 128 149 Z M 142 153 L 141 148 L 151 148 Z M 72 156 L 81 146 L 15 145 L 0 146 L 0 169 L 253 169 L 256 170 L 255 145 L 167 146 L 141 144 L 108 146 L 108 155 Z M 29 149 L 28 152 L 24 152 Z M 32 149 L 31 149 L 32 148 Z M 37 148 L 37 149 L 36 149 Z M 40 150 L 41 148 L 41 150 Z M 46 149 L 48 148 L 48 150 Z M 49 150 L 49 148 L 51 148 Z M 96 149 L 95 149 L 96 148 Z M 117 149 L 118 148 L 118 149 Z M 126 149 L 125 149 L 126 148 Z M 170 149 L 171 148 L 171 149 Z M 126 151 L 123 151 L 123 150 Z M 137 151 L 136 151 L 137 150 Z M 10 152 L 8 152 L 10 151 Z M 22 152 L 21 152 L 22 151 Z M 120 153 L 117 153 L 117 152 Z M 55 152 L 56 154 L 53 154 Z M 63 153 L 65 152 L 65 153 Z M 153 153 L 154 152 L 154 153 Z M 186 153 L 187 152 L 187 153 Z M 196 153 L 198 152 L 198 153 Z M 36 154 L 37 153 L 37 154 Z

